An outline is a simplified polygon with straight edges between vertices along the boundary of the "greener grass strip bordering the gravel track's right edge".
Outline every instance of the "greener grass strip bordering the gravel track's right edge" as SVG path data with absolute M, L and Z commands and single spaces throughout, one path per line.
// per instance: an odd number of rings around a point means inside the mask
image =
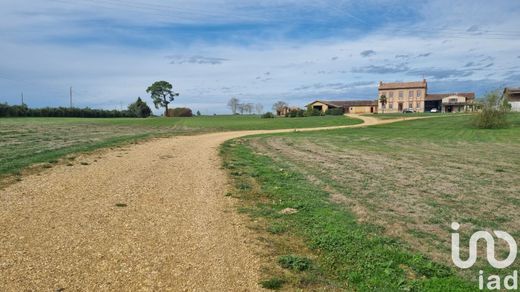
M 261 238 L 271 248 L 271 264 L 264 267 L 264 282 L 269 285 L 264 287 L 474 290 L 473 283 L 460 278 L 451 268 L 410 252 L 405 243 L 381 235 L 376 225 L 358 223 L 348 208 L 330 201 L 328 192 L 309 182 L 290 164 L 258 155 L 248 140 L 225 143 L 221 154 L 224 167 L 234 174 L 240 210 L 261 222 Z M 280 270 L 280 264 L 282 269 L 305 269 Z M 273 285 L 276 287 L 270 286 L 273 279 L 277 280 Z

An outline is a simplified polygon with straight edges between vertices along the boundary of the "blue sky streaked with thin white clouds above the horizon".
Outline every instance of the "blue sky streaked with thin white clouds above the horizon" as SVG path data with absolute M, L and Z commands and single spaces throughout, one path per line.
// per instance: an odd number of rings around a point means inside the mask
M 166 80 L 174 106 L 375 99 L 520 86 L 520 1 L 0 0 L 0 102 L 120 109 Z M 158 113 L 159 111 L 156 111 Z

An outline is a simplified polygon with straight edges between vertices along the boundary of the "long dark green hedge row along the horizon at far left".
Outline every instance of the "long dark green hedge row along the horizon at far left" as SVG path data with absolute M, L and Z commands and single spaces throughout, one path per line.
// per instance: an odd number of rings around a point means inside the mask
M 28 108 L 27 105 L 0 103 L 0 117 L 55 117 L 55 118 L 130 118 L 131 111 L 91 108 L 45 107 Z

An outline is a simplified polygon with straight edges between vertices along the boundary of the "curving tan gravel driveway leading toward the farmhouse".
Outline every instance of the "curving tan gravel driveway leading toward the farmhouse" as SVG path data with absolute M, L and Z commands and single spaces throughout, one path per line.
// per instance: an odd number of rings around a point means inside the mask
M 360 118 L 346 127 L 395 121 Z M 0 291 L 259 290 L 218 146 L 287 131 L 158 139 L 24 177 L 0 191 Z

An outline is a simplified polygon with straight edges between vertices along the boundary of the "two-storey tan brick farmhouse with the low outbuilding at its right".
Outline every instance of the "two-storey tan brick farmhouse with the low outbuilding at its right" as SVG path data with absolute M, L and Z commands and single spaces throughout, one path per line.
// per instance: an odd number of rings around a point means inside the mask
M 386 104 L 381 103 L 381 96 L 386 97 Z M 475 93 L 428 94 L 426 79 L 415 82 L 379 82 L 379 112 L 399 113 L 403 110 L 429 112 L 437 109 L 442 112 L 473 111 Z

